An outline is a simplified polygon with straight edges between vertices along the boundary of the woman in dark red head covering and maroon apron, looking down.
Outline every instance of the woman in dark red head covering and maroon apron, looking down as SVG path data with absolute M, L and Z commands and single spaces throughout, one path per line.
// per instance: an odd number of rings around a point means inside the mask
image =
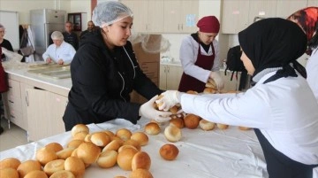
M 180 47 L 180 60 L 184 70 L 179 84 L 179 91 L 194 90 L 202 92 L 208 79 L 216 82 L 217 89 L 223 89 L 220 76 L 219 44 L 216 35 L 220 23 L 215 16 L 201 18 L 197 27 L 199 31 L 186 36 Z

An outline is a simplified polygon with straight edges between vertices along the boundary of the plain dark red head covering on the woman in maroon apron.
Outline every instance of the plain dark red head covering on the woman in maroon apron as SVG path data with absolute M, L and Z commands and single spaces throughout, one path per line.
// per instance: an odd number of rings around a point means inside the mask
M 206 16 L 198 21 L 197 27 L 201 32 L 217 34 L 220 30 L 220 22 L 215 16 Z

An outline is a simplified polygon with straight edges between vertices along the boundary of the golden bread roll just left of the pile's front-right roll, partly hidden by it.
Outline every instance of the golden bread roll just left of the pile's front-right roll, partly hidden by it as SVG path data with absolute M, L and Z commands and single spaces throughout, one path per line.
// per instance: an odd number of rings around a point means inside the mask
M 120 151 L 117 155 L 117 165 L 125 171 L 131 171 L 133 156 L 137 152 L 133 148 L 125 148 L 123 151 Z

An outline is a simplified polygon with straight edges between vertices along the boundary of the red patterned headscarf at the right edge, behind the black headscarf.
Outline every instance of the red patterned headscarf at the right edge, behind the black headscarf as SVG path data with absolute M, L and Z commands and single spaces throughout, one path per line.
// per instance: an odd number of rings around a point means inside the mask
M 307 7 L 299 10 L 298 12 L 292 13 L 287 19 L 292 20 L 301 27 L 307 35 L 309 41 L 314 32 L 317 30 L 317 19 L 318 19 L 318 7 Z

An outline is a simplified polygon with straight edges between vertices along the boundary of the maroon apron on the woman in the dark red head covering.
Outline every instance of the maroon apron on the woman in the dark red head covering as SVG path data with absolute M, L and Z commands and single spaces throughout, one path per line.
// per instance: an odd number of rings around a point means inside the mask
M 213 55 L 204 56 L 204 55 L 201 55 L 201 45 L 199 43 L 198 58 L 196 62 L 194 63 L 195 66 L 200 66 L 201 68 L 204 68 L 206 70 L 211 70 L 214 64 L 215 57 L 216 57 L 213 43 L 211 43 L 211 47 L 212 47 Z M 178 90 L 182 92 L 193 90 L 193 91 L 197 91 L 198 93 L 201 93 L 205 89 L 205 85 L 206 85 L 205 82 L 199 81 L 196 78 L 183 73 Z

